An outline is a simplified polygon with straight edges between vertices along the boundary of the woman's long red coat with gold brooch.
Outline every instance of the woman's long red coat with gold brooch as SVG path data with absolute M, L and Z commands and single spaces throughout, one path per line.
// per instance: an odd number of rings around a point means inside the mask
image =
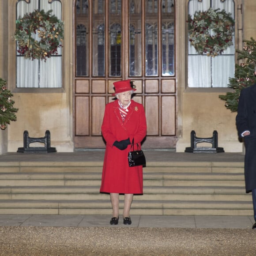
M 100 192 L 143 194 L 142 166 L 128 165 L 131 145 L 120 150 L 113 143 L 128 138 L 132 142 L 134 138 L 134 143 L 140 145 L 147 133 L 145 111 L 143 105 L 131 100 L 127 117 L 122 122 L 118 106 L 116 100 L 105 107 L 102 136 L 106 141 L 106 150 Z

